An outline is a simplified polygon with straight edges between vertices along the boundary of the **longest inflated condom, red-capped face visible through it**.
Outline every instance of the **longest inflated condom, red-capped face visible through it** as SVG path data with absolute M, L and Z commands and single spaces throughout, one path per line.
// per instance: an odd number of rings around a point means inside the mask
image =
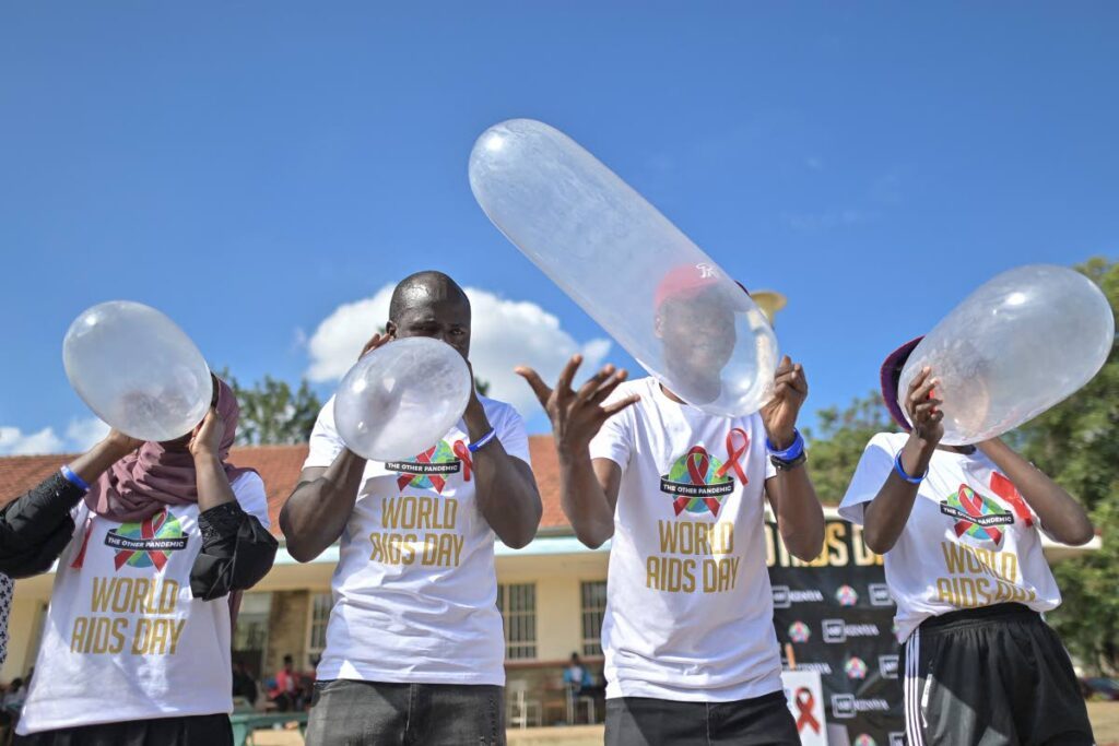
M 505 236 L 688 404 L 723 416 L 772 395 L 764 313 L 698 246 L 574 140 L 510 120 L 478 139 L 470 188 Z

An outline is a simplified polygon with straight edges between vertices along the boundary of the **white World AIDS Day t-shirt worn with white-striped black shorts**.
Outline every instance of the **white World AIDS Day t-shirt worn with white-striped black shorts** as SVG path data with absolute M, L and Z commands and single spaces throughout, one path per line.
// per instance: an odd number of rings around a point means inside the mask
M 839 514 L 863 525 L 905 445 L 905 433 L 871 438 Z M 897 603 L 897 641 L 921 622 L 961 608 L 1002 603 L 1047 612 L 1061 604 L 1042 553 L 1041 521 L 1010 481 L 978 448 L 935 451 L 913 512 L 885 555 L 886 584 Z

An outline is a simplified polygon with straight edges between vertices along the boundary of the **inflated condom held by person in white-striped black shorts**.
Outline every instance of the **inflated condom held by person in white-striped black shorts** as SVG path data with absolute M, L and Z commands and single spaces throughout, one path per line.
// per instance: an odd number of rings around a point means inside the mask
M 1002 435 L 1090 381 L 1111 352 L 1115 314 L 1096 284 L 1066 267 L 1034 264 L 968 295 L 913 350 L 902 399 L 929 366 L 940 379 L 947 445 Z

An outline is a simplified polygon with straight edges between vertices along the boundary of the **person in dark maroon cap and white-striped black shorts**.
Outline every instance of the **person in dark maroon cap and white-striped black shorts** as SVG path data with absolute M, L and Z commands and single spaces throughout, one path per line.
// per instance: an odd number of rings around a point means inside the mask
M 941 445 L 932 369 L 899 402 L 902 368 L 920 341 L 882 366 L 882 396 L 905 432 L 871 438 L 839 507 L 885 556 L 908 743 L 1092 744 L 1072 663 L 1041 616 L 1061 603 L 1041 532 L 1082 545 L 1092 523 L 1000 438 Z

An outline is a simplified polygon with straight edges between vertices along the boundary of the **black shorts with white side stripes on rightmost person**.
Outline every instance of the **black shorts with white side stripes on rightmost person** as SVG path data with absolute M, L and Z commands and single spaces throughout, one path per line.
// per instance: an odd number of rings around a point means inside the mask
M 1090 746 L 1056 633 L 1019 604 L 934 616 L 902 645 L 910 746 Z

